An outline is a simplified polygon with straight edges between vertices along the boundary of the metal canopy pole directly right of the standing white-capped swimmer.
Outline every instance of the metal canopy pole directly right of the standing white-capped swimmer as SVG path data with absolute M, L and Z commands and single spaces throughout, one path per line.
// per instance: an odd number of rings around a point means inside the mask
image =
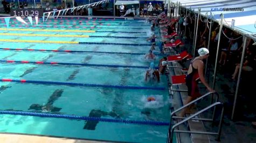
M 219 35 L 218 35 L 218 45 L 216 51 L 216 60 L 215 60 L 215 70 L 213 73 L 213 82 L 212 82 L 212 89 L 215 89 L 215 81 L 216 81 L 216 72 L 217 72 L 217 62 L 218 62 L 218 53 L 219 53 L 219 42 L 220 42 L 220 35 L 222 35 L 222 27 L 223 27 L 223 13 L 220 14 L 220 24 L 219 24 Z

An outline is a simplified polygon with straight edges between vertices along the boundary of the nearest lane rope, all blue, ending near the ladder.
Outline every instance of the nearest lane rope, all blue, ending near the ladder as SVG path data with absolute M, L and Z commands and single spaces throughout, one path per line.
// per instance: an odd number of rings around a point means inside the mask
M 170 125 L 169 122 L 137 121 L 137 120 L 130 120 L 130 119 L 99 118 L 99 117 L 51 114 L 51 113 L 41 113 L 41 112 L 26 112 L 26 111 L 0 110 L 0 114 L 45 117 L 45 118 L 79 119 L 79 120 L 84 120 L 84 121 L 99 121 L 99 122 L 139 124 L 139 125 L 155 125 L 155 126 L 169 126 Z

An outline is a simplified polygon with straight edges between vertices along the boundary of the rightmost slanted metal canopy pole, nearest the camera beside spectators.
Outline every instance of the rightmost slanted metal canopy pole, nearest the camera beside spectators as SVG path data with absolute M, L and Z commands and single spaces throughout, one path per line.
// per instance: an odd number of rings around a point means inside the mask
M 242 67 L 243 67 L 243 63 L 244 63 L 246 41 L 247 41 L 247 37 L 245 37 L 244 45 L 243 45 L 243 52 L 242 52 L 240 66 L 239 66 L 239 73 L 238 73 L 238 79 L 237 79 L 237 88 L 236 88 L 236 94 L 234 94 L 234 104 L 233 104 L 231 119 L 234 118 L 234 110 L 236 109 L 236 104 L 237 104 L 237 95 L 238 95 L 238 88 L 239 88 L 239 84 L 240 84 L 240 77 L 241 77 Z

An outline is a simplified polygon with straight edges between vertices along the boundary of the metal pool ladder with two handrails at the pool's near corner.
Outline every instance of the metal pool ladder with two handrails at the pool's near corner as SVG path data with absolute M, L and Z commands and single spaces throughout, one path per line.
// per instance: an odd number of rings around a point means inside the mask
M 193 103 L 196 103 L 199 100 L 202 100 L 204 97 L 212 95 L 212 99 L 213 99 L 213 95 L 216 95 L 216 101 L 215 103 L 212 103 L 210 106 L 207 106 L 206 108 L 196 112 L 195 114 L 189 116 L 189 117 L 178 117 L 178 116 L 174 116 L 176 112 L 181 111 L 182 109 L 190 106 Z M 223 122 L 223 113 L 224 113 L 224 107 L 223 107 L 223 103 L 218 102 L 219 100 L 219 94 L 217 92 L 208 92 L 206 94 L 204 94 L 203 96 L 200 96 L 198 99 L 193 100 L 191 102 L 189 102 L 188 104 L 185 104 L 184 106 L 182 106 L 181 108 L 178 108 L 174 111 L 171 112 L 171 117 L 170 117 L 170 126 L 169 126 L 169 130 L 168 130 L 168 143 L 172 143 L 172 139 L 174 136 L 174 133 L 194 133 L 194 134 L 211 134 L 211 135 L 216 135 L 217 136 L 217 141 L 220 141 L 220 133 L 222 131 L 222 122 Z M 176 127 L 178 127 L 179 125 L 183 124 L 184 122 L 189 121 L 190 119 L 196 120 L 196 121 L 207 121 L 207 122 L 215 122 L 215 111 L 216 111 L 216 106 L 219 106 L 220 109 L 222 110 L 221 115 L 220 115 L 220 121 L 219 121 L 219 125 L 218 125 L 218 132 L 204 132 L 204 131 L 186 131 L 186 130 L 175 130 Z M 212 118 L 195 118 L 197 115 L 201 114 L 202 112 L 209 110 L 211 108 L 213 109 L 213 114 L 212 114 Z M 174 124 L 174 120 L 176 119 L 176 124 Z M 182 121 L 177 121 L 177 119 L 183 119 Z

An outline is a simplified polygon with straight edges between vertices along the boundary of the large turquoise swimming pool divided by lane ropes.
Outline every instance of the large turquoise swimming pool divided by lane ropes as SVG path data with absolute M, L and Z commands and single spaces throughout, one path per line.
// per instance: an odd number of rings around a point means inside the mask
M 0 29 L 2 79 L 127 88 L 0 82 L 1 110 L 169 122 L 166 77 L 161 76 L 160 83 L 144 82 L 149 66 L 144 54 L 150 49 L 146 41 L 150 25 L 144 20 L 63 18 L 48 19 L 34 27 L 26 27 L 16 20 L 10 23 L 8 31 Z M 1 27 L 4 27 L 3 21 Z M 84 30 L 91 32 L 82 32 Z M 155 66 L 160 58 L 158 55 Z M 51 62 L 68 64 L 44 64 Z M 152 89 L 129 88 L 131 86 Z M 147 102 L 148 96 L 156 97 L 157 102 Z M 0 118 L 1 132 L 126 142 L 165 142 L 169 127 L 20 115 L 0 115 Z

